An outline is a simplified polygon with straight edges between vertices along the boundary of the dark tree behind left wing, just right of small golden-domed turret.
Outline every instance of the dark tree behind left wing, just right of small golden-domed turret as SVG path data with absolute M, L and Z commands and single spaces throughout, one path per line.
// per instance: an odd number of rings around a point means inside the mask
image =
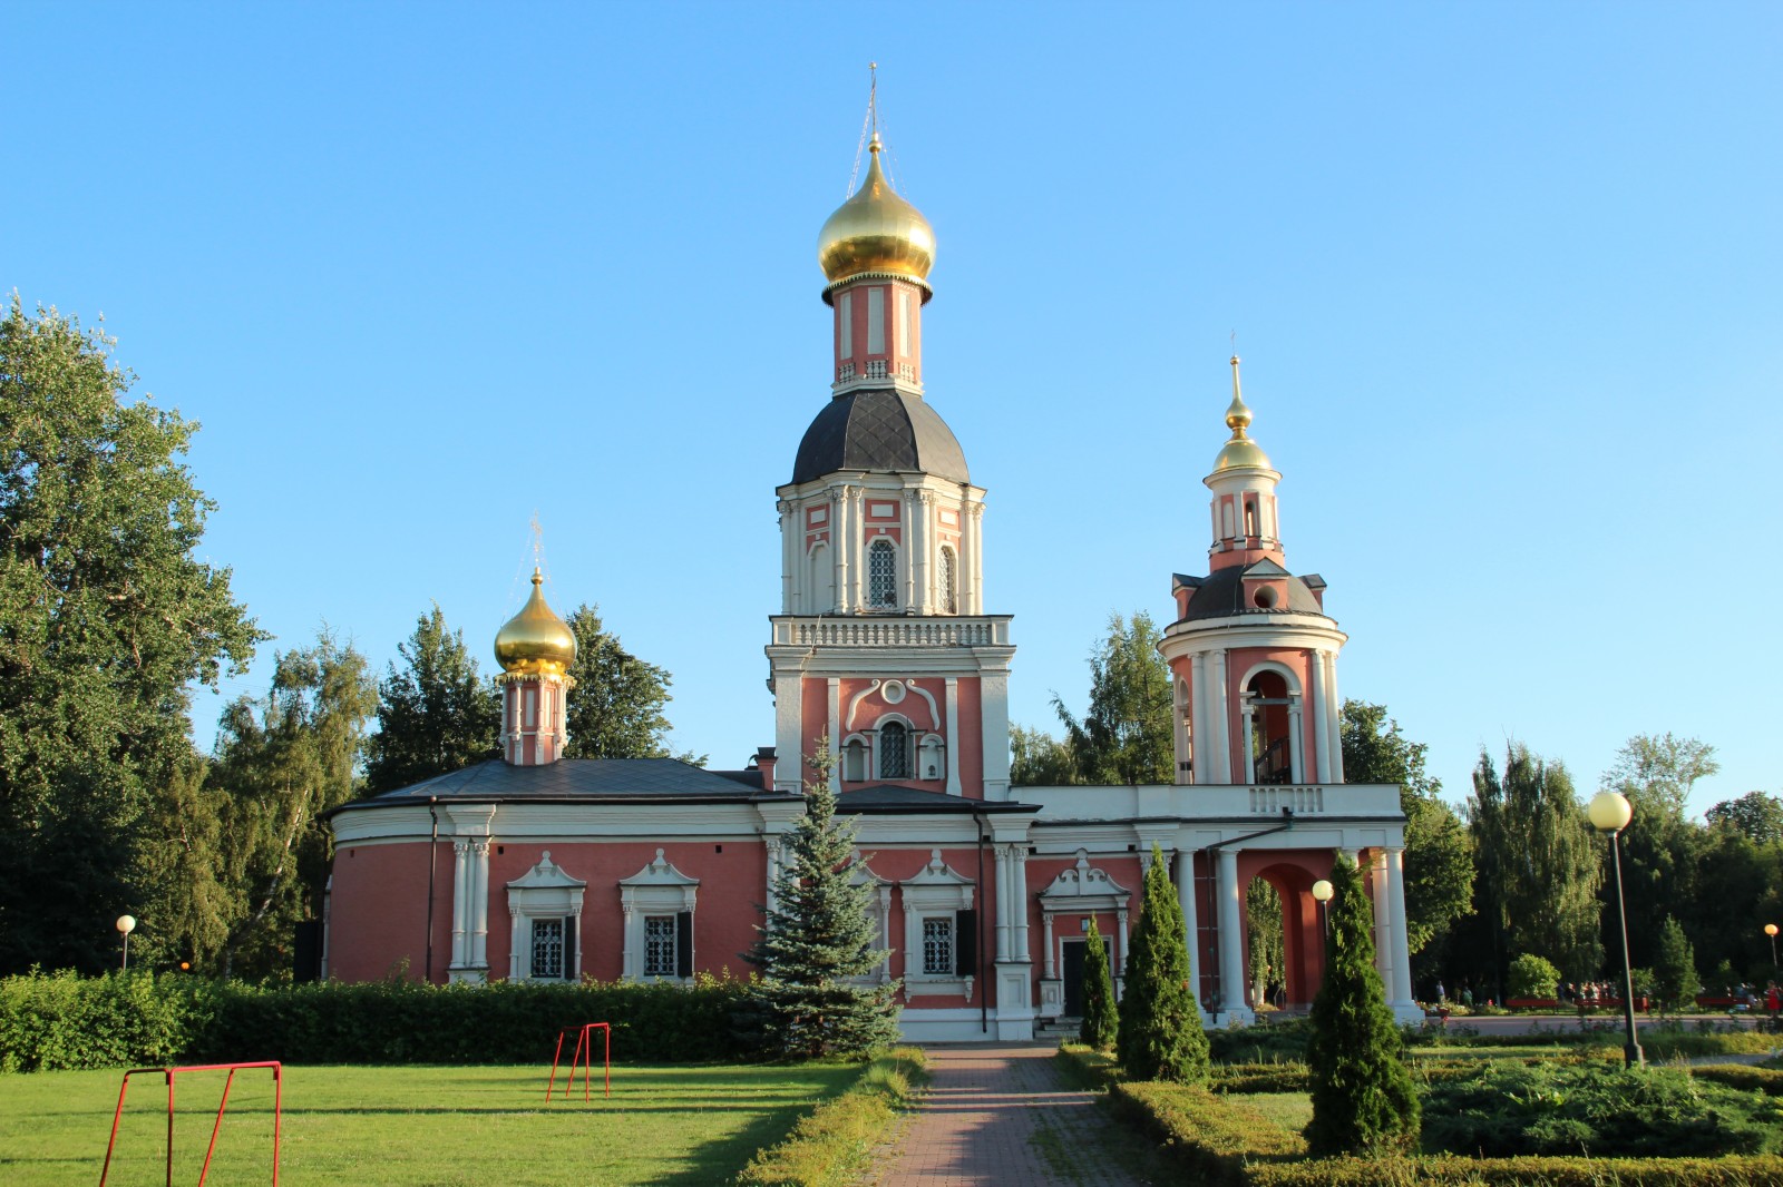
M 576 636 L 569 674 L 569 745 L 563 757 L 670 757 L 669 672 L 638 659 L 601 624 L 599 606 L 581 604 L 567 618 Z M 679 756 L 704 766 L 704 756 Z

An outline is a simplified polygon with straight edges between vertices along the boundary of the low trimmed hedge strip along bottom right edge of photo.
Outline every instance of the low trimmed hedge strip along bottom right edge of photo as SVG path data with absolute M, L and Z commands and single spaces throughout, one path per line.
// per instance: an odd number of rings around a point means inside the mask
M 1255 1166 L 1253 1187 L 1772 1187 L 1783 1158 L 1318 1158 Z

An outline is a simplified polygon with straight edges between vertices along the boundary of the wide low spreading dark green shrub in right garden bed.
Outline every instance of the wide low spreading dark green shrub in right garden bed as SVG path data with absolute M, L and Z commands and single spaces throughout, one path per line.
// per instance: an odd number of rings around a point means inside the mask
M 1779 1112 L 1683 1071 L 1491 1062 L 1425 1089 L 1425 1150 L 1624 1158 L 1772 1153 Z

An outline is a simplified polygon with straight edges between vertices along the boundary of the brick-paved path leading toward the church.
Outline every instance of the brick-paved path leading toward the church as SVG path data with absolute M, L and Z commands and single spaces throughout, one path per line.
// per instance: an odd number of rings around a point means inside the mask
M 1109 1150 L 1097 1093 L 1054 1046 L 931 1046 L 929 1091 L 867 1176 L 874 1187 L 1141 1187 Z

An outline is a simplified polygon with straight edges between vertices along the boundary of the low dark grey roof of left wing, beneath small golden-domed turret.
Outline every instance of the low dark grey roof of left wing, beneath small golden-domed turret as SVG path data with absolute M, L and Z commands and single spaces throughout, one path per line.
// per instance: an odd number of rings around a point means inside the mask
M 512 766 L 489 759 L 435 775 L 408 788 L 353 800 L 335 811 L 385 807 L 439 798 L 489 800 L 754 800 L 795 798 L 763 791 L 760 772 L 717 772 L 681 759 L 560 759 L 546 766 Z

